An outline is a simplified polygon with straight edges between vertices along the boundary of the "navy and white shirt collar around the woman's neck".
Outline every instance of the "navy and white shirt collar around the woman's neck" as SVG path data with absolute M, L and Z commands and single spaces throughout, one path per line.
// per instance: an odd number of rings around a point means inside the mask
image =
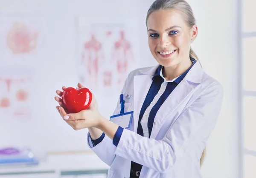
M 192 68 L 192 66 L 195 64 L 196 60 L 192 57 L 190 57 L 190 61 L 192 62 L 192 65 L 189 67 L 189 69 L 187 69 L 183 74 L 181 74 L 180 76 L 172 79 L 172 80 L 169 80 L 169 81 L 166 81 L 166 79 L 163 77 L 163 66 L 159 65 L 159 67 L 157 68 L 156 72 L 155 72 L 155 75 L 153 76 L 152 80 L 155 78 L 155 77 L 160 77 L 160 78 L 163 78 L 164 82 L 175 82 L 177 84 L 179 84 L 181 82 L 181 80 L 183 80 L 183 78 L 186 76 L 186 74 L 189 72 L 189 70 Z

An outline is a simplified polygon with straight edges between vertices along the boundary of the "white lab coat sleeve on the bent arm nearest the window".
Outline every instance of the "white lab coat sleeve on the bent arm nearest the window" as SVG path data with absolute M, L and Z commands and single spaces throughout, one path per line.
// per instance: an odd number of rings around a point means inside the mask
M 162 140 L 124 129 L 115 154 L 161 173 L 172 171 L 195 144 L 207 142 L 220 113 L 222 98 L 222 86 L 210 85 L 183 111 Z

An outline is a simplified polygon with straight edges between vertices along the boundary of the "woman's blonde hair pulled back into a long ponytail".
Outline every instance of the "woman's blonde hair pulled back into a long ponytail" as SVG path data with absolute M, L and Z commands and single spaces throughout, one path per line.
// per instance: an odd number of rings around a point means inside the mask
M 192 8 L 189 5 L 189 3 L 186 2 L 186 0 L 155 0 L 154 3 L 148 9 L 148 13 L 146 17 L 146 25 L 148 22 L 148 17 L 152 12 L 166 10 L 166 9 L 179 10 L 183 14 L 183 17 L 190 28 L 192 28 L 196 24 L 196 20 L 195 20 L 195 16 L 192 11 Z M 195 58 L 195 60 L 198 60 L 198 62 L 200 63 L 198 56 L 195 54 L 195 52 L 192 50 L 191 47 L 189 51 L 189 57 Z M 200 158 L 201 166 L 204 162 L 205 152 L 206 152 L 206 148 L 202 152 L 202 155 Z

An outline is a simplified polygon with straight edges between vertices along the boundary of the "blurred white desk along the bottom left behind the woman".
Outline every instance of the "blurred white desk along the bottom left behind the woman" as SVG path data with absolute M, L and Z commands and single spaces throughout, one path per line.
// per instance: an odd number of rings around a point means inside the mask
M 108 169 L 94 153 L 49 155 L 36 166 L 0 167 L 0 178 L 102 178 Z

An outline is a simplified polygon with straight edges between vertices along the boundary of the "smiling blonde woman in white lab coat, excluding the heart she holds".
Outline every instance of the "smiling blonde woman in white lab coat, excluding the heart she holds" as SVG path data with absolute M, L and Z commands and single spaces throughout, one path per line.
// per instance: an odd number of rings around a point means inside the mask
M 111 166 L 108 178 L 201 178 L 200 158 L 220 113 L 222 86 L 190 48 L 198 27 L 185 0 L 156 0 L 146 25 L 160 65 L 128 75 L 114 111 L 121 115 L 103 118 L 95 98 L 76 114 L 66 113 L 58 97 L 56 108 L 73 129 L 89 129 L 89 147 Z M 122 117 L 132 111 L 131 118 Z M 125 129 L 116 124 L 129 119 Z

